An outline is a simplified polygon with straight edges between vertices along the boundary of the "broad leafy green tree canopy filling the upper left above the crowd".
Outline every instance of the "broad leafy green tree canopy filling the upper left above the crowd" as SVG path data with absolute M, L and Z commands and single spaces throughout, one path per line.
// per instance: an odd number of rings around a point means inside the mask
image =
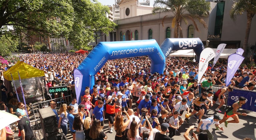
M 99 36 L 98 31 L 104 35 L 113 30 L 115 24 L 106 12 L 108 7 L 96 0 L 1 0 L 0 37 L 13 42 L 31 35 L 61 36 L 75 48 L 84 48 Z

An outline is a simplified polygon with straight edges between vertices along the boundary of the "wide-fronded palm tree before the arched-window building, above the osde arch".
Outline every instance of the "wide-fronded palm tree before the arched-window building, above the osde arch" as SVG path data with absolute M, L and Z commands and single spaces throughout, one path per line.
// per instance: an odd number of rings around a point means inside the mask
M 210 2 L 205 0 L 155 0 L 153 13 L 171 12 L 173 16 L 172 28 L 174 28 L 174 37 L 183 37 L 181 20 L 187 24 L 190 19 L 198 32 L 198 26 L 194 20 L 197 18 L 199 22 L 207 29 L 207 25 L 203 17 L 209 15 Z M 166 16 L 163 18 L 163 20 Z M 163 23 L 163 21 L 162 21 Z M 179 35 L 180 34 L 180 35 Z

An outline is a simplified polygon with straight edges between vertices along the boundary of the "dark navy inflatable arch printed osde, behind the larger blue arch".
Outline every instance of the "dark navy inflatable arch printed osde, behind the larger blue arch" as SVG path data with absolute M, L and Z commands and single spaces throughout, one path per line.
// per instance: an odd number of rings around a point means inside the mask
M 198 56 L 196 61 L 199 62 L 199 56 L 204 49 L 204 44 L 199 38 L 166 38 L 160 48 L 166 58 L 172 50 L 194 49 Z

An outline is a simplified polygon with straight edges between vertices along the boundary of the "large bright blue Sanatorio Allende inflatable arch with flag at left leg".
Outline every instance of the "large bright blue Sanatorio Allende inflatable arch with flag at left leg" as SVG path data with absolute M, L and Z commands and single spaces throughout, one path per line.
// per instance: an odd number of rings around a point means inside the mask
M 107 60 L 148 56 L 151 60 L 151 73 L 163 73 L 165 55 L 155 39 L 135 41 L 99 42 L 83 62 L 74 70 L 76 99 L 84 94 L 85 87 L 92 89 L 95 74 Z M 78 97 L 79 96 L 79 97 Z

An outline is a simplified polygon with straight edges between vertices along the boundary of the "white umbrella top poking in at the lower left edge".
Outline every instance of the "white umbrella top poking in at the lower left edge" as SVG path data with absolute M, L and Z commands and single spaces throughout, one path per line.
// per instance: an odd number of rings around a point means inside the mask
M 0 130 L 17 120 L 20 119 L 16 115 L 0 110 Z

